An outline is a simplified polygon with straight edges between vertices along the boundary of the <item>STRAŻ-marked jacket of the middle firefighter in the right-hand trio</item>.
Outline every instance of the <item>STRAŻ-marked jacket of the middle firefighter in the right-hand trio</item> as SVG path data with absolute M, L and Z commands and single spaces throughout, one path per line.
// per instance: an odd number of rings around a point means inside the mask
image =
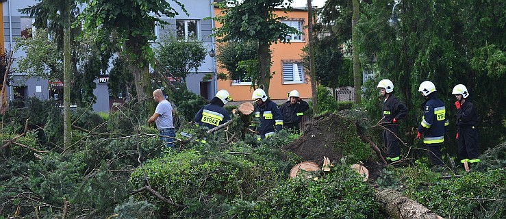
M 423 143 L 442 144 L 447 125 L 448 119 L 443 102 L 433 95 L 429 96 L 423 107 L 422 123 L 418 127 L 418 131 L 423 133 Z

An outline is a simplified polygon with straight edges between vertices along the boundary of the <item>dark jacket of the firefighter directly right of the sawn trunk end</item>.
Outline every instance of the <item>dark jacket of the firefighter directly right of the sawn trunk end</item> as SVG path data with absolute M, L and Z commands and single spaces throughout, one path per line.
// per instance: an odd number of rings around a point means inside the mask
M 283 128 L 283 116 L 276 103 L 269 99 L 264 105 L 255 105 L 253 125 L 257 126 L 257 134 L 262 138 L 271 136 Z

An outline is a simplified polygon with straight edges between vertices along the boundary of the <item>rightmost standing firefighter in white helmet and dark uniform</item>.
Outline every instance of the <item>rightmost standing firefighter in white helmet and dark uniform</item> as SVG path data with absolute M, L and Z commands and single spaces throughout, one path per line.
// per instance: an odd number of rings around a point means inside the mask
M 461 163 L 468 162 L 470 164 L 477 163 L 478 159 L 478 116 L 475 106 L 468 101 L 469 92 L 464 84 L 457 84 L 452 94 L 455 94 L 457 101 L 457 149 L 459 151 L 459 159 Z

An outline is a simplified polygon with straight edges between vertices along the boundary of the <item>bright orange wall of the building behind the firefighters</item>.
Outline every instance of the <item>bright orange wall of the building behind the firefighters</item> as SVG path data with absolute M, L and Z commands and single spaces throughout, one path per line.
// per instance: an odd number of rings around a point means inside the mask
M 215 8 L 214 14 L 219 14 L 220 10 Z M 288 16 L 288 18 L 303 18 L 303 41 L 302 42 L 291 42 L 288 43 L 277 43 L 270 46 L 272 52 L 273 65 L 270 66 L 270 71 L 275 72 L 273 78 L 270 79 L 270 86 L 268 96 L 270 99 L 287 99 L 287 93 L 296 89 L 299 91 L 301 98 L 311 98 L 311 84 L 309 77 L 305 75 L 306 83 L 296 84 L 283 84 L 283 69 L 281 60 L 302 60 L 301 54 L 303 47 L 307 42 L 307 10 L 295 10 L 285 14 L 283 12 L 277 12 L 278 16 Z M 221 27 L 220 23 L 215 22 L 216 27 Z M 219 42 L 216 42 L 219 43 Z M 219 62 L 219 61 L 218 61 Z M 304 69 L 305 70 L 305 69 Z M 226 73 L 227 70 L 218 67 L 218 73 Z M 231 81 L 218 80 L 218 90 L 228 90 L 230 96 L 234 101 L 251 101 L 251 94 L 253 94 L 253 88 L 249 85 L 232 86 Z

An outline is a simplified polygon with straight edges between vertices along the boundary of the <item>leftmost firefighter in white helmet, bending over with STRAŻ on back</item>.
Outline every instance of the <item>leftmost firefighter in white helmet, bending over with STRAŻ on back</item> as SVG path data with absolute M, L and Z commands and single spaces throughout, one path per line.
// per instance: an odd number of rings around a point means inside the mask
M 232 101 L 227 90 L 220 90 L 216 93 L 210 104 L 204 105 L 195 115 L 195 123 L 212 129 L 230 120 L 227 110 L 223 108 L 228 101 Z

